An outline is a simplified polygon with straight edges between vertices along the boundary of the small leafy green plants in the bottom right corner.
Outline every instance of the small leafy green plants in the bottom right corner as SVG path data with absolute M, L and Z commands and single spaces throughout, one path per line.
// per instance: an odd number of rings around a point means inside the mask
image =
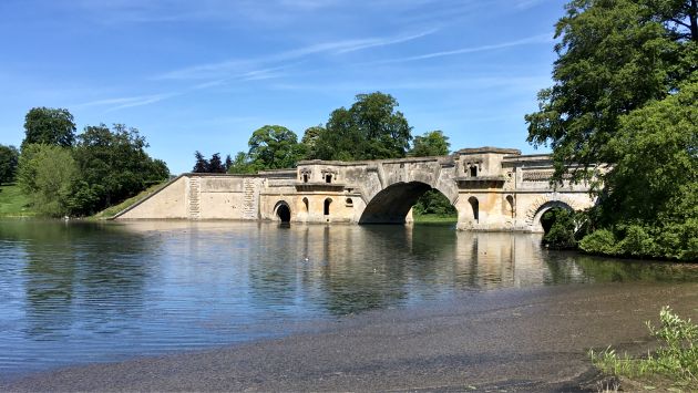
M 589 351 L 592 362 L 604 373 L 627 378 L 667 376 L 680 385 L 698 387 L 698 325 L 679 318 L 669 307 L 659 312 L 659 327 L 646 322 L 649 333 L 660 341 L 646 359 L 618 356 L 608 348 Z

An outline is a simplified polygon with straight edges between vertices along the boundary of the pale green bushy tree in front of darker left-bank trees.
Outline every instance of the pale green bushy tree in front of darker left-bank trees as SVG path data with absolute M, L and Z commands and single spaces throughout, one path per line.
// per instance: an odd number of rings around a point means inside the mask
M 20 156 L 19 186 L 42 215 L 59 217 L 69 213 L 71 187 L 78 175 L 78 165 L 66 147 L 25 145 Z

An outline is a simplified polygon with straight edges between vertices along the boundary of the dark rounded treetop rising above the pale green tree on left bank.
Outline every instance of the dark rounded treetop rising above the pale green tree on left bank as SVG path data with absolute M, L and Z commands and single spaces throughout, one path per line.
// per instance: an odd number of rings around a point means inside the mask
M 24 132 L 22 148 L 37 143 L 70 147 L 75 142 L 73 115 L 63 108 L 31 108 L 24 117 Z

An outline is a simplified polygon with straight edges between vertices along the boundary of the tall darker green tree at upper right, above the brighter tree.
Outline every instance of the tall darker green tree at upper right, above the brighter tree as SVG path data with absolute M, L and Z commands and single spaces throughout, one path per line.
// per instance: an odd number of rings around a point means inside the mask
M 565 164 L 614 164 L 619 116 L 661 100 L 698 68 L 696 0 L 572 0 L 556 25 L 554 85 L 525 116 L 528 142 Z M 575 178 L 588 176 L 575 173 Z

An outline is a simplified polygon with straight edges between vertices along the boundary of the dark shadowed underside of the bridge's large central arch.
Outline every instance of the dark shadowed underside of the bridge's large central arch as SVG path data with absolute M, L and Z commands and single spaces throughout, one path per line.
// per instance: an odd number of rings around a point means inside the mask
M 412 206 L 430 189 L 437 188 L 421 182 L 394 183 L 376 194 L 359 224 L 404 224 Z

